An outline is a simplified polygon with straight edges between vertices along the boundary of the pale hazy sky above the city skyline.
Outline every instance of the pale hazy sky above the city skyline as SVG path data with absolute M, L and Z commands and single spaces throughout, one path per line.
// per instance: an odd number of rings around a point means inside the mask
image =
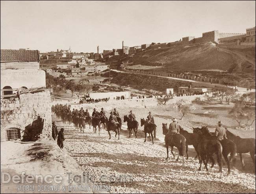
M 255 1 L 1 1 L 1 49 L 41 52 L 174 42 L 202 32 L 245 33 Z

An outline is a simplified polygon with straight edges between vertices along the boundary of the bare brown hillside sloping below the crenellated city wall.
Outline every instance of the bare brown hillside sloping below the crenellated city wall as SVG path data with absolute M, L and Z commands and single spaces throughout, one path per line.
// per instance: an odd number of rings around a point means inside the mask
M 113 56 L 109 64 L 124 66 L 161 66 L 155 71 L 187 72 L 193 70 L 255 71 L 255 47 L 237 48 L 234 44 L 204 43 L 192 46 L 146 50 L 130 56 Z

